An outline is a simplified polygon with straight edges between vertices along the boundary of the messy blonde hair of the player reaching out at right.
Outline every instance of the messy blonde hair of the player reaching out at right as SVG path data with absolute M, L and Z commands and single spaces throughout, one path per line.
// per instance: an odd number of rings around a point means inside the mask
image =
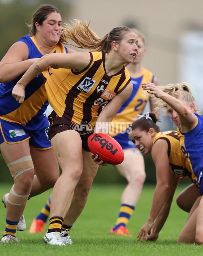
M 180 84 L 168 84 L 166 86 L 157 86 L 159 90 L 168 93 L 168 95 L 171 95 L 175 98 L 178 98 L 181 96 L 181 98 L 188 104 L 194 103 L 195 105 L 195 98 L 192 95 L 192 92 L 194 92 L 193 87 L 188 84 L 187 82 L 183 82 Z M 154 97 L 154 96 L 153 96 Z M 167 103 L 165 103 L 161 99 L 156 99 L 156 103 L 158 107 L 156 109 L 163 108 L 164 115 L 169 115 L 167 110 Z M 195 107 L 195 113 L 198 113 L 198 110 Z

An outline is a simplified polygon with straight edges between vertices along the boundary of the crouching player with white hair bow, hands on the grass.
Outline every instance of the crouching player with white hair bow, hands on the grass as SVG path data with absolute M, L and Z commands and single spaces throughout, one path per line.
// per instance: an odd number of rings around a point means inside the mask
M 157 240 L 169 214 L 180 176 L 189 176 L 192 181 L 196 178 L 179 146 L 177 132 L 160 132 L 156 122 L 153 113 L 146 113 L 133 123 L 132 133 L 129 134 L 144 155 L 152 153 L 156 166 L 157 185 L 153 202 L 149 218 L 139 232 L 138 241 L 141 237 L 142 241 Z

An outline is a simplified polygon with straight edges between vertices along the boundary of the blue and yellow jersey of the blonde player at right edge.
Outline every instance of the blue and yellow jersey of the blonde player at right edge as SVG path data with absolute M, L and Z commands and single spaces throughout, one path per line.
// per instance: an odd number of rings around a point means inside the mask
M 203 117 L 196 113 L 194 114 L 198 118 L 197 126 L 187 133 L 182 133 L 178 126 L 177 134 L 181 150 L 197 177 L 200 193 L 203 194 Z

